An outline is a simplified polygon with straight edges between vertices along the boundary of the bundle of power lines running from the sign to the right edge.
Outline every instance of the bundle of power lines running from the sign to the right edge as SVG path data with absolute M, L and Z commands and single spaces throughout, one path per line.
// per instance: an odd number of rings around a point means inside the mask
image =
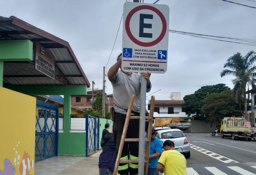
M 198 38 L 205 38 L 205 39 L 209 39 L 209 40 L 225 41 L 225 42 L 230 42 L 230 43 L 238 43 L 238 44 L 256 46 L 256 39 L 250 39 L 250 38 L 231 38 L 231 37 L 226 37 L 226 36 L 198 34 L 198 33 L 192 33 L 192 32 L 176 31 L 176 30 L 171 30 L 171 29 L 169 30 L 169 32 L 183 34 L 183 35 L 187 35 L 187 36 L 198 37 Z M 220 39 L 216 39 L 216 38 L 220 38 Z

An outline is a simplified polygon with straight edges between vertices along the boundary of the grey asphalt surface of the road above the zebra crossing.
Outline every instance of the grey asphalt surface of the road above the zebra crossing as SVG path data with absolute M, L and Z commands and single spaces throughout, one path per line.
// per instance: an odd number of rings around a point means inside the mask
M 233 141 L 231 138 L 222 139 L 220 135 L 211 136 L 210 134 L 201 133 L 189 133 L 185 135 L 190 144 L 201 147 L 205 150 L 214 152 L 240 163 L 256 162 L 256 142 L 245 140 Z M 208 155 L 194 149 L 190 150 L 191 158 L 187 160 L 187 164 L 193 164 L 195 162 L 197 164 L 215 162 L 213 158 Z

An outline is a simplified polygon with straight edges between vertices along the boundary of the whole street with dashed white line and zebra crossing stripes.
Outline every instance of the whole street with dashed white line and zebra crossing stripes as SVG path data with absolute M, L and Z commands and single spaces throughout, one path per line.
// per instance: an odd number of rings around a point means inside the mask
M 184 133 L 190 143 L 188 175 L 256 175 L 256 142 Z

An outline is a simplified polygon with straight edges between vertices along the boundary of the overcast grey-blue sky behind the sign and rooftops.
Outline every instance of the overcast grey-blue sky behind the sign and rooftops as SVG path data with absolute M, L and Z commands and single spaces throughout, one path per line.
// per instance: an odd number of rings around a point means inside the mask
M 232 1 L 256 7 L 253 1 Z M 111 54 L 124 3 L 125 0 L 5 0 L 0 1 L 0 16 L 14 15 L 68 41 L 90 83 L 95 81 L 94 87 L 102 89 L 103 66 Z M 157 4 L 169 6 L 169 29 L 256 39 L 256 9 L 222 0 L 159 0 Z M 121 52 L 122 31 L 121 24 L 106 73 Z M 255 46 L 169 33 L 167 72 L 151 75 L 152 89 L 147 95 L 161 89 L 153 95 L 157 100 L 168 100 L 171 92 L 181 92 L 183 98 L 205 85 L 225 83 L 232 88 L 234 77 L 219 76 L 223 65 L 236 52 L 245 55 L 251 50 L 256 51 Z M 106 86 L 106 93 L 112 94 L 108 79 Z

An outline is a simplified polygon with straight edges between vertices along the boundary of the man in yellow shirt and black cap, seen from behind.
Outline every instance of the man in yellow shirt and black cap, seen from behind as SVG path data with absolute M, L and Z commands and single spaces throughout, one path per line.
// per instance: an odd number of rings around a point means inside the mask
M 162 148 L 165 151 L 157 162 L 157 170 L 164 172 L 164 175 L 187 175 L 187 161 L 184 155 L 175 150 L 173 141 L 164 141 Z

